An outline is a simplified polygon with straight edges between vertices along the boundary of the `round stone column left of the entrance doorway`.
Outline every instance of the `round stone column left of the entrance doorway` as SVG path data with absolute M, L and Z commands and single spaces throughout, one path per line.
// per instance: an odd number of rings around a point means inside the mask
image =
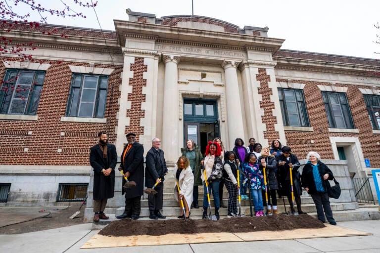
M 164 108 L 162 114 L 162 144 L 166 163 L 175 163 L 180 154 L 178 147 L 178 63 L 179 56 L 164 55 Z

